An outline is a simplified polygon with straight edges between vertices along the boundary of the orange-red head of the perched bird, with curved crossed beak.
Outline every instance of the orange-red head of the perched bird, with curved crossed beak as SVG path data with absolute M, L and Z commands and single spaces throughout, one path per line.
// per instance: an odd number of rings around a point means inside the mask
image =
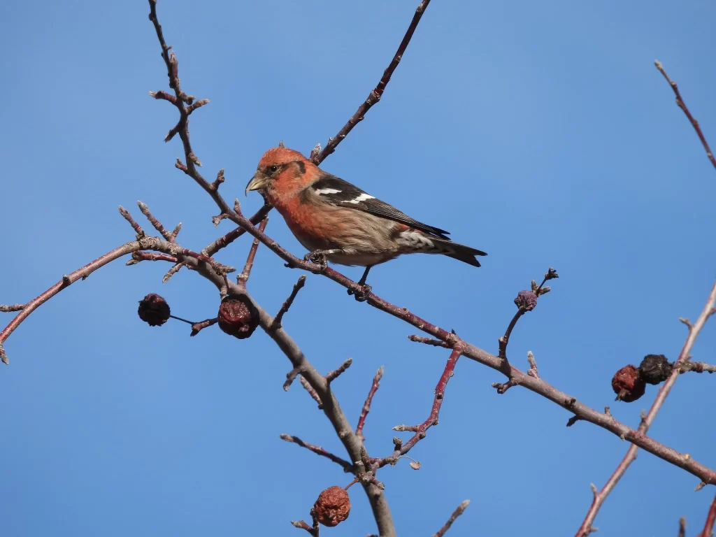
M 292 197 L 311 183 L 316 165 L 298 151 L 280 145 L 271 147 L 258 161 L 256 173 L 246 185 L 249 190 L 263 190 L 269 200 Z

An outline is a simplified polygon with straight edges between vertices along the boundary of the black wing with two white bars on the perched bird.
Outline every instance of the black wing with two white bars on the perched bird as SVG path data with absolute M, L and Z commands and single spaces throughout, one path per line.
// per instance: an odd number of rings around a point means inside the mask
M 392 205 L 375 198 L 356 185 L 352 185 L 348 181 L 344 181 L 335 175 L 330 175 L 329 173 L 324 174 L 323 177 L 313 183 L 310 188 L 314 190 L 315 194 L 320 195 L 322 199 L 334 205 L 340 205 L 341 207 L 356 209 L 357 211 L 370 213 L 374 216 L 387 218 L 388 220 L 405 224 L 411 228 L 425 231 L 425 233 L 430 233 L 448 241 L 450 240 L 450 238 L 447 237 L 450 233 L 449 231 L 418 222 L 410 218 L 410 216 L 407 216 L 407 214 L 398 211 Z

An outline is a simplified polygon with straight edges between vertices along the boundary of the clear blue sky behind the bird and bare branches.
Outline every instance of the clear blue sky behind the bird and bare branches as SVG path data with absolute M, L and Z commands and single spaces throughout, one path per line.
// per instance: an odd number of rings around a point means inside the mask
M 223 192 L 243 198 L 263 151 L 325 142 L 377 82 L 417 0 L 160 0 L 185 90 L 211 104 L 192 116 L 195 150 Z M 176 111 L 146 1 L 4 2 L 0 6 L 0 303 L 26 301 L 133 233 L 117 213 L 143 200 L 198 250 L 228 231 L 175 170 L 165 144 Z M 412 256 L 374 269 L 384 298 L 492 352 L 513 298 L 548 266 L 561 278 L 518 324 L 510 352 L 592 407 L 636 426 L 642 400 L 615 403 L 612 374 L 648 353 L 674 359 L 716 275 L 716 174 L 671 90 L 664 62 L 716 145 L 716 6 L 705 0 L 434 0 L 379 103 L 324 169 L 456 241 L 487 251 L 483 268 Z M 145 226 L 146 228 L 147 226 Z M 303 255 L 279 215 L 268 231 Z M 220 260 L 241 266 L 248 237 Z M 150 328 L 137 301 L 165 296 L 175 314 L 213 316 L 218 295 L 195 274 L 122 262 L 39 309 L 9 339 L 0 371 L 3 536 L 295 535 L 337 465 L 279 440 L 298 435 L 343 455 L 329 422 L 263 333 Z M 250 286 L 269 310 L 299 276 L 265 248 Z M 360 269 L 346 269 L 354 278 Z M 1 314 L 3 322 L 10 314 Z M 713 362 L 716 319 L 695 359 Z M 388 455 L 391 427 L 425 419 L 448 355 L 408 342 L 406 324 L 309 276 L 286 329 L 335 384 L 355 422 L 370 379 L 384 380 L 366 427 Z M 440 425 L 407 461 L 379 473 L 400 535 L 428 536 L 460 501 L 449 535 L 572 535 L 627 450 L 604 430 L 464 359 Z M 651 434 L 716 466 L 716 377 L 679 378 Z M 671 536 L 702 527 L 713 488 L 641 453 L 596 522 L 600 535 Z M 326 536 L 372 533 L 362 491 Z

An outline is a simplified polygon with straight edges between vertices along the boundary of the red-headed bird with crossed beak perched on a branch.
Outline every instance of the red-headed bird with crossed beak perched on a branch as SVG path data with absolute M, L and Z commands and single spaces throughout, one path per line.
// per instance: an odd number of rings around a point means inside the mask
M 448 231 L 407 216 L 283 144 L 263 154 L 246 195 L 249 190 L 261 190 L 284 217 L 309 251 L 306 261 L 364 266 L 358 281 L 364 293 L 370 292 L 366 281 L 373 266 L 405 253 L 439 253 L 476 267 L 475 256 L 487 255 L 451 241 Z

